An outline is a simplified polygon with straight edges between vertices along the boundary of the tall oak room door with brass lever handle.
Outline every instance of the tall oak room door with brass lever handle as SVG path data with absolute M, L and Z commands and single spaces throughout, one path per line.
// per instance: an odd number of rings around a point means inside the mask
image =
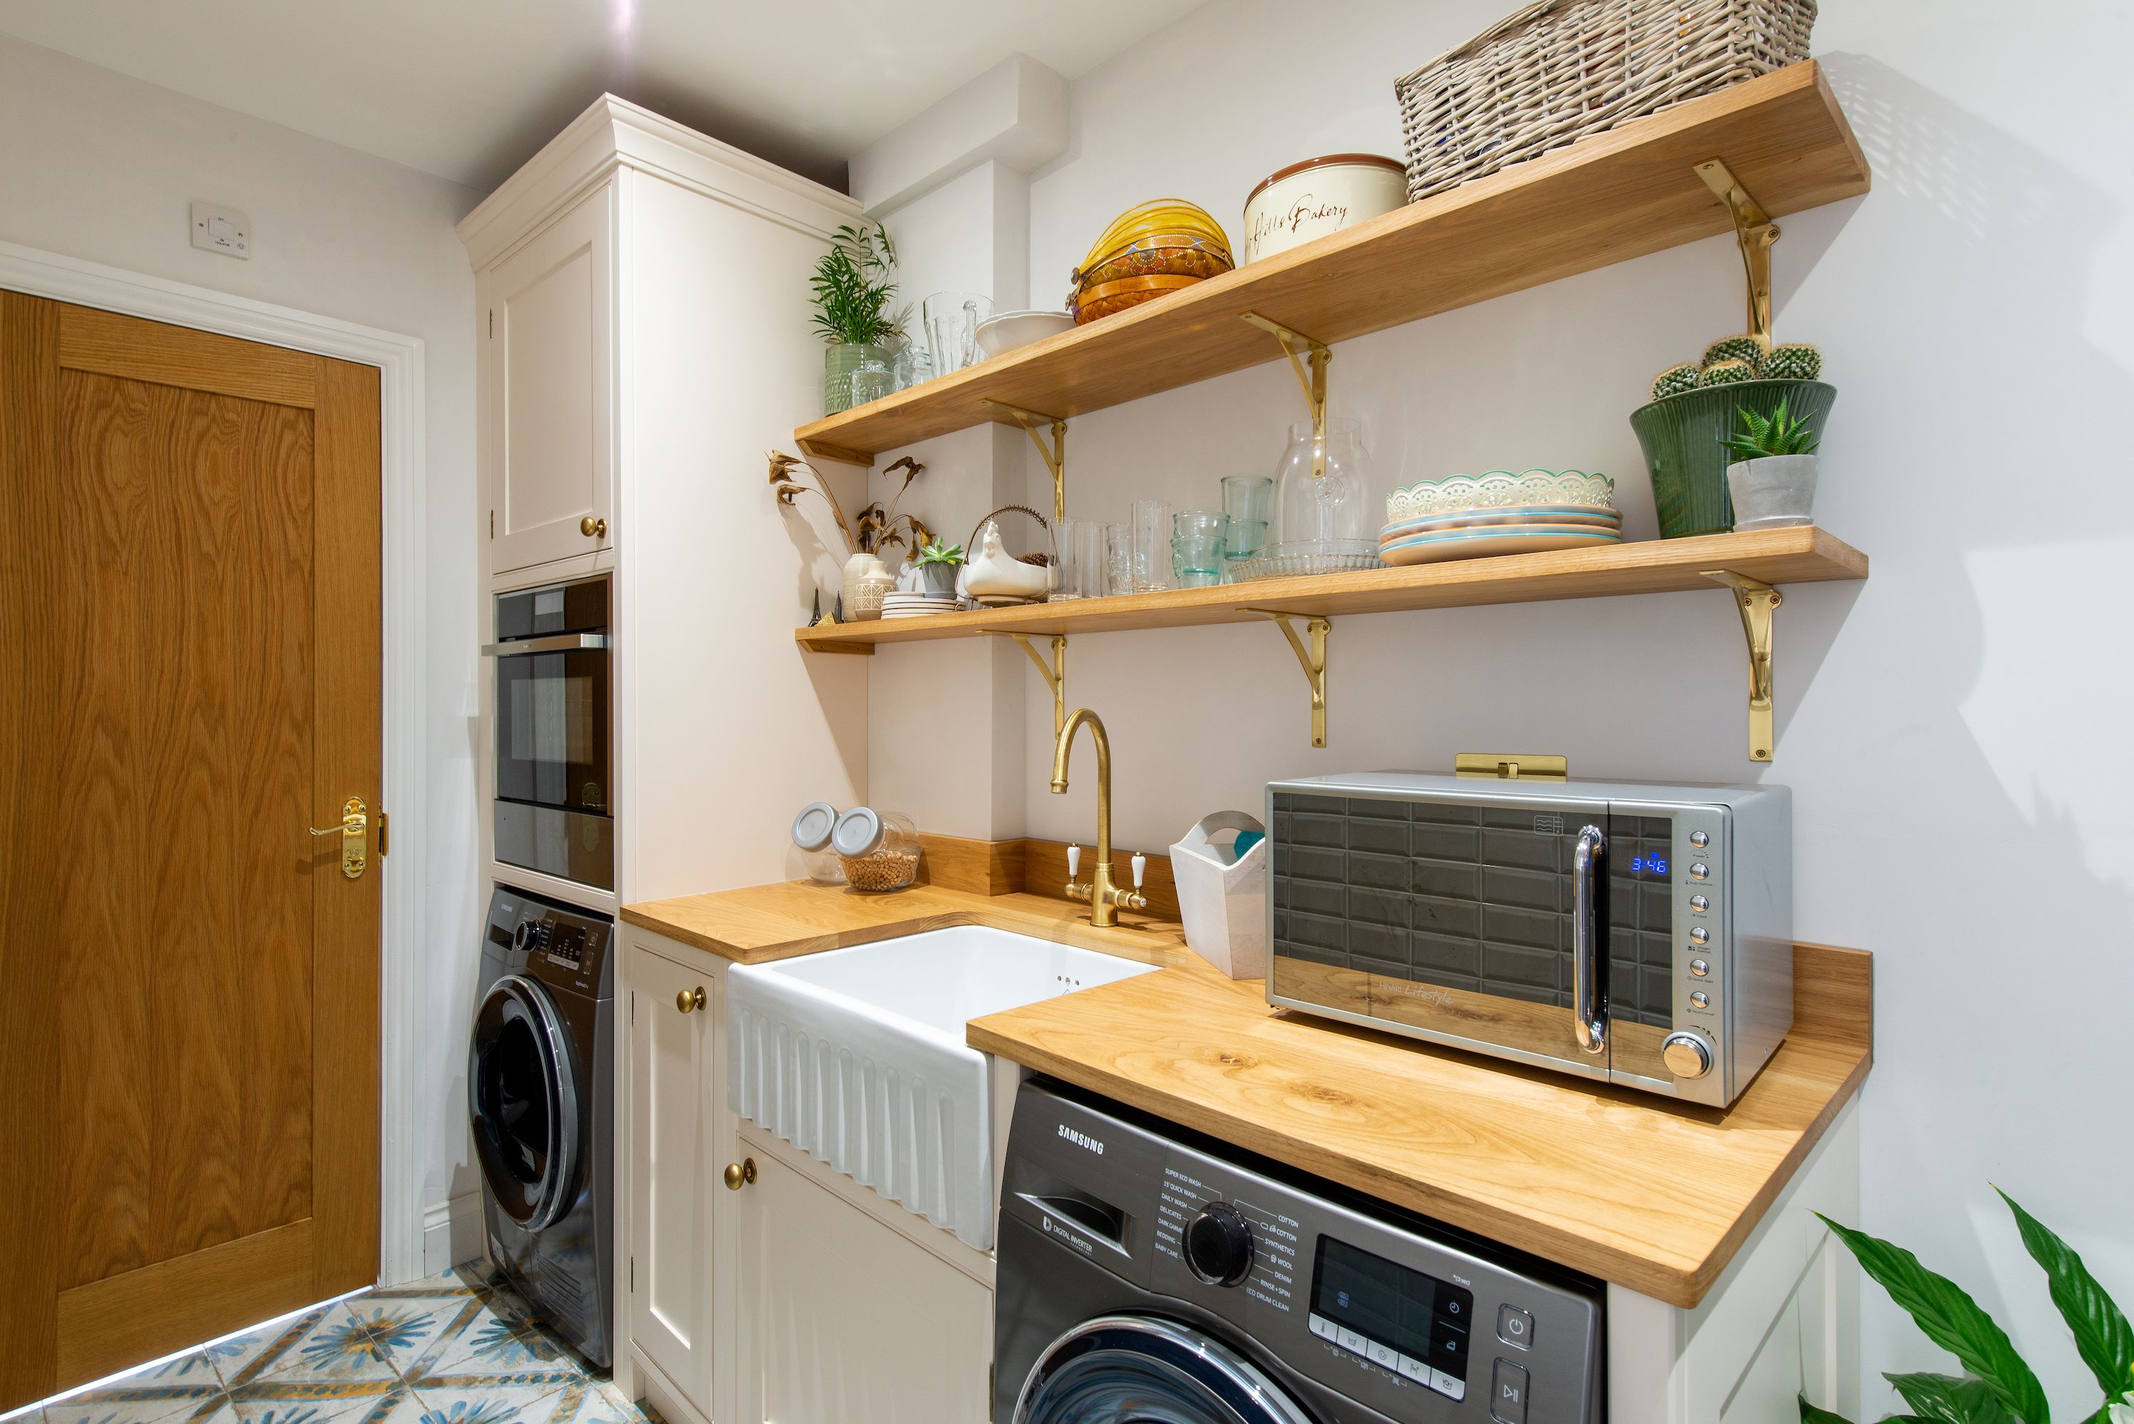
M 378 371 L 0 292 L 0 1409 L 376 1281 Z

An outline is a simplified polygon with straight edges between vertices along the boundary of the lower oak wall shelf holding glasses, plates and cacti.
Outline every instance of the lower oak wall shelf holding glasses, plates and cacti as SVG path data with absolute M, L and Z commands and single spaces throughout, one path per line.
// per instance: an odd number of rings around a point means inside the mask
M 871 619 L 796 628 L 800 647 L 817 653 L 873 651 L 877 643 L 930 643 L 1018 632 L 1026 636 L 1125 632 L 1131 628 L 1195 628 L 1263 623 L 1272 615 L 1340 617 L 1408 608 L 1470 608 L 1560 598 L 1684 594 L 1718 589 L 1707 579 L 1724 570 L 1758 583 L 1831 583 L 1867 576 L 1867 555 L 1818 527 L 1656 538 L 1609 549 L 1511 553 L 1417 568 L 1368 568 L 1353 574 L 1257 579 L 1212 589 L 1163 589 L 1078 598 L 1063 604 L 975 608 L 909 619 Z

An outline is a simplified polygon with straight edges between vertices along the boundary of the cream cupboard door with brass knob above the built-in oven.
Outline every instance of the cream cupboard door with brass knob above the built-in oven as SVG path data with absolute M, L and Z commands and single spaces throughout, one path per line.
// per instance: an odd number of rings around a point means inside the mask
M 615 184 L 484 273 L 493 572 L 612 544 Z

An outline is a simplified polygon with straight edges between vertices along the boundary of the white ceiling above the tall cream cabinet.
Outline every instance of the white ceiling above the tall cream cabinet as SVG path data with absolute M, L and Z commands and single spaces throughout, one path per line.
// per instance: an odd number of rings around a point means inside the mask
M 1009 53 L 1069 79 L 1199 0 L 0 0 L 0 30 L 495 188 L 602 90 L 843 188 Z

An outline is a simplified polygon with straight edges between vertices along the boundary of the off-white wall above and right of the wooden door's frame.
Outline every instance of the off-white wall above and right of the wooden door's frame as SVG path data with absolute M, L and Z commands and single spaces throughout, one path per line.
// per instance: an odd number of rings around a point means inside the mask
M 109 263 L 425 342 L 429 805 L 414 1001 L 423 1200 L 478 1187 L 465 1025 L 476 974 L 472 737 L 474 275 L 465 188 L 0 36 L 0 241 Z M 188 243 L 188 205 L 252 218 L 252 260 Z M 433 1213 L 442 1221 L 442 1211 Z M 440 1228 L 442 1230 L 442 1228 Z M 461 1240 L 461 1251 L 476 1245 Z

